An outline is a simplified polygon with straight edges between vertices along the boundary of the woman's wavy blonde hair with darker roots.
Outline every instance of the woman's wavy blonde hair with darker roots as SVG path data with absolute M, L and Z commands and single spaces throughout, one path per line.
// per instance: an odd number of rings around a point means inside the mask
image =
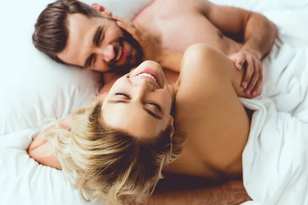
M 102 198 L 107 204 L 146 202 L 163 177 L 164 165 L 182 151 L 185 135 L 170 139 L 170 126 L 147 142 L 108 127 L 102 119 L 102 101 L 76 111 L 70 130 L 56 129 L 50 138 L 62 169 L 75 178 L 73 188 L 86 201 Z

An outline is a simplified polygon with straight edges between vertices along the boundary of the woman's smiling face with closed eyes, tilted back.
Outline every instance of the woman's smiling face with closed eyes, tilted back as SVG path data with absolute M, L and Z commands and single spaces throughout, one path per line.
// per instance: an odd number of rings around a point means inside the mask
M 161 66 L 144 61 L 115 81 L 103 101 L 103 119 L 108 126 L 150 139 L 170 123 L 174 93 Z

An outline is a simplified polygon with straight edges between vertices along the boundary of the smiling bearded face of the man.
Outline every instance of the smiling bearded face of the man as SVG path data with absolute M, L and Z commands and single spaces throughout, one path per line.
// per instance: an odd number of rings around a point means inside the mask
M 69 14 L 67 22 L 67 45 L 57 55 L 65 63 L 121 74 L 141 63 L 140 45 L 112 18 Z

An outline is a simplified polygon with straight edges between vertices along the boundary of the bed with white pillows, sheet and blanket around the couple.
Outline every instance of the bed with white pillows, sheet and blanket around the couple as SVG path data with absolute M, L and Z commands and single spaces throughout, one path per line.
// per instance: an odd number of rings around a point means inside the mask
M 36 133 L 49 126 L 45 119 L 73 112 L 100 87 L 98 73 L 55 64 L 32 46 L 36 17 L 51 2 L 0 3 L 4 8 L 0 13 L 4 73 L 0 75 L 0 204 L 84 204 L 62 171 L 39 165 L 26 151 Z M 152 1 L 84 2 L 100 3 L 130 20 Z M 254 199 L 246 203 L 308 204 L 308 158 L 303 147 L 307 145 L 304 136 L 308 138 L 308 0 L 213 2 L 260 12 L 277 24 L 280 33 L 271 55 L 263 61 L 270 71 L 265 77 L 274 79 L 264 85 L 264 100 L 241 99 L 256 110 L 243 153 L 244 185 Z M 290 92 L 281 93 L 277 85 Z M 266 141 L 269 137 L 272 140 Z M 262 147 L 266 143 L 271 146 Z M 95 203 L 99 202 L 91 202 Z

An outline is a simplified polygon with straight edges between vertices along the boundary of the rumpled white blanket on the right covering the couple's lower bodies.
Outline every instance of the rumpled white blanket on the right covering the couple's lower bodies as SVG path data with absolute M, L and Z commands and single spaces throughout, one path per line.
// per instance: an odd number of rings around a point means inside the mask
M 308 47 L 277 40 L 263 65 L 262 96 L 241 99 L 256 110 L 243 152 L 247 204 L 308 204 Z

